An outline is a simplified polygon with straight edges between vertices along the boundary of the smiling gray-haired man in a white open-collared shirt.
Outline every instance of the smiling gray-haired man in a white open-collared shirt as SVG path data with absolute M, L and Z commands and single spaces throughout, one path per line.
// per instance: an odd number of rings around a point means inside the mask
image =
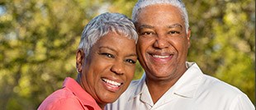
M 190 34 L 181 0 L 139 0 L 132 19 L 139 34 L 137 54 L 145 75 L 107 109 L 254 110 L 234 86 L 202 73 L 187 61 Z

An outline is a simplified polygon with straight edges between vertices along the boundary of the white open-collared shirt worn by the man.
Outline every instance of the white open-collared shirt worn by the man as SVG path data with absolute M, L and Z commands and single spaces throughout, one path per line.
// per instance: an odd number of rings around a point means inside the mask
M 160 89 L 159 89 L 160 90 Z M 214 77 L 203 74 L 194 62 L 168 91 L 153 103 L 145 74 L 134 80 L 107 110 L 255 110 L 246 94 Z

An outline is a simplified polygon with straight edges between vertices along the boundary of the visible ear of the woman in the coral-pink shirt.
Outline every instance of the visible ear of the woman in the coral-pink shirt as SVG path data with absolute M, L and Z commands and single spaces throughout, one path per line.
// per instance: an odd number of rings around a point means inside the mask
M 84 53 L 83 49 L 78 49 L 77 55 L 76 55 L 76 67 L 78 73 L 82 72 L 83 69 L 83 63 L 84 63 Z

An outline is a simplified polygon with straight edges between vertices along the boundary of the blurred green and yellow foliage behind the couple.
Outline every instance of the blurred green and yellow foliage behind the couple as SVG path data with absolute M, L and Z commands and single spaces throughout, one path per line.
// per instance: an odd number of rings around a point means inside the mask
M 192 29 L 188 61 L 255 103 L 255 1 L 183 1 Z M 130 17 L 135 2 L 1 0 L 0 109 L 36 109 L 65 77 L 77 76 L 75 53 L 83 26 L 105 11 Z M 138 64 L 134 79 L 142 73 Z

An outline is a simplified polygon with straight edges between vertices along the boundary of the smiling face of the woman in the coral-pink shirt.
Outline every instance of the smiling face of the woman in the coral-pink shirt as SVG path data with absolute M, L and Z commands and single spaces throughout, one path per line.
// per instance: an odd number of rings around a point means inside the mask
M 110 32 L 92 46 L 90 53 L 85 54 L 89 54 L 87 59 L 82 51 L 77 54 L 82 85 L 102 108 L 116 101 L 130 85 L 137 60 L 135 40 Z

